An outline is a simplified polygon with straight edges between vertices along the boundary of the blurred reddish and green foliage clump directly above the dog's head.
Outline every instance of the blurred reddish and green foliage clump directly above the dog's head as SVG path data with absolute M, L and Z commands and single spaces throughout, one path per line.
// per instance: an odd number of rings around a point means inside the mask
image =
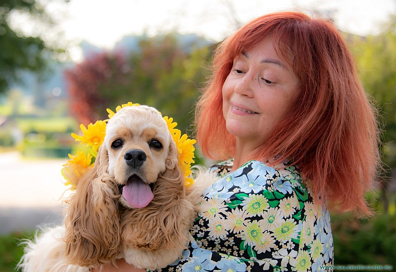
M 208 46 L 181 45 L 175 35 L 142 38 L 132 52 L 102 52 L 66 71 L 71 111 L 88 124 L 128 101 L 153 106 L 186 132 L 205 81 Z

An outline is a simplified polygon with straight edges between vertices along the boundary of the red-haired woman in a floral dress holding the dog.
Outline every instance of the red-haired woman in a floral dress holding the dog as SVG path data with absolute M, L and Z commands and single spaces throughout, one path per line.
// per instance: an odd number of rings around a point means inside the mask
M 380 165 L 376 112 L 338 30 L 264 15 L 218 46 L 212 72 L 197 139 L 209 158 L 233 159 L 211 167 L 223 178 L 183 260 L 162 271 L 333 270 L 327 206 L 370 215 L 363 194 Z

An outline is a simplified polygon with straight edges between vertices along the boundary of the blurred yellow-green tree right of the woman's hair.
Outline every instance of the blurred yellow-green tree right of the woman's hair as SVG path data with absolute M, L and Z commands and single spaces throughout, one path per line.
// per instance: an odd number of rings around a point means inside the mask
M 360 77 L 365 90 L 378 103 L 383 126 L 383 161 L 392 177 L 396 173 L 396 16 L 378 36 L 354 37 L 350 47 L 356 57 Z M 385 210 L 388 208 L 386 194 L 390 182 L 382 182 Z

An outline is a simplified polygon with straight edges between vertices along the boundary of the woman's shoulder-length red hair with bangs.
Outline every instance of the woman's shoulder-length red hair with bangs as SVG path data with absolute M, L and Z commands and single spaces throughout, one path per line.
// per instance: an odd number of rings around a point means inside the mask
M 234 58 L 268 35 L 273 35 L 278 53 L 294 56 L 291 65 L 301 95 L 252 159 L 292 159 L 317 201 L 338 211 L 370 214 L 363 194 L 380 166 L 376 109 L 362 88 L 347 45 L 329 21 L 299 12 L 268 14 L 217 47 L 212 77 L 196 112 L 203 154 L 217 160 L 233 157 L 235 138 L 226 130 L 222 86 Z

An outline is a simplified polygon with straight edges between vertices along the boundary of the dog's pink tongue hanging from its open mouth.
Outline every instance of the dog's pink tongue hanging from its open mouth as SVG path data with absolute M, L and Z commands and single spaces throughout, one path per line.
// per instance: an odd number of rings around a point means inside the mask
M 137 176 L 129 178 L 122 188 L 122 195 L 134 208 L 144 208 L 154 198 L 150 186 Z

